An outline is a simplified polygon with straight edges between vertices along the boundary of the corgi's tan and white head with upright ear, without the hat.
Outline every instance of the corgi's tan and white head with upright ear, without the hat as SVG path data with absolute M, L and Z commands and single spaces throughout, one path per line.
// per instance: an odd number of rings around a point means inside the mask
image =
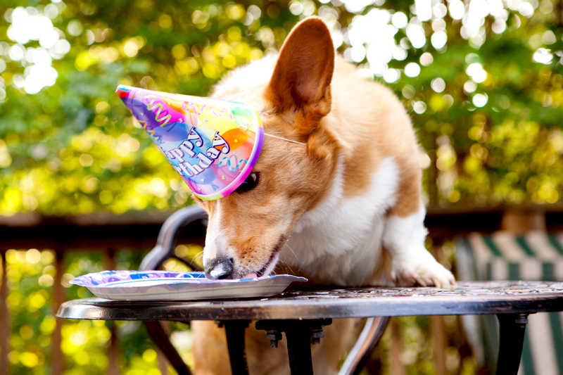
M 319 18 L 308 18 L 287 37 L 269 82 L 243 88 L 234 72 L 216 89 L 215 97 L 252 104 L 267 134 L 304 145 L 266 136 L 239 189 L 217 201 L 196 198 L 209 215 L 203 251 L 208 278 L 272 272 L 303 213 L 327 194 L 339 157 L 336 136 L 322 125 L 331 110 L 333 71 L 330 32 Z

